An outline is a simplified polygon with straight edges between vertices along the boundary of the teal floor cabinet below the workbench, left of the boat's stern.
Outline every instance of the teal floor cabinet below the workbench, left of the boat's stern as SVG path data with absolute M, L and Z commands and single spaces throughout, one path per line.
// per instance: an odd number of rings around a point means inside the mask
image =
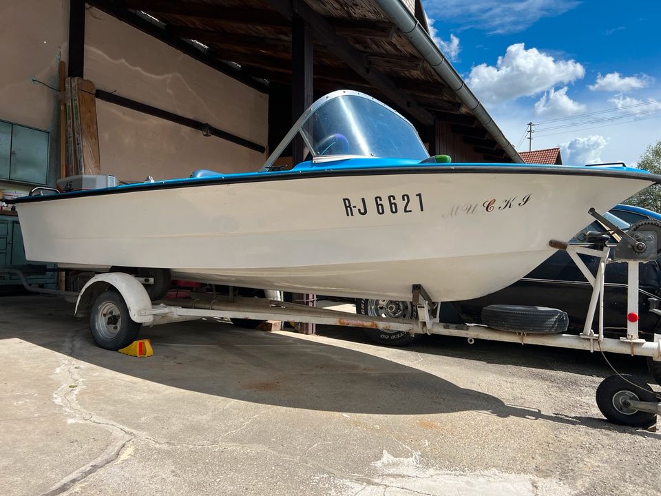
M 23 234 L 19 219 L 13 216 L 0 216 L 0 267 L 17 267 L 28 264 L 44 265 L 52 268 L 53 264 L 42 262 L 28 262 L 25 258 Z M 27 276 L 30 284 L 48 285 L 55 287 L 56 274 L 54 272 L 35 273 Z M 16 276 L 0 273 L 0 286 L 21 285 Z

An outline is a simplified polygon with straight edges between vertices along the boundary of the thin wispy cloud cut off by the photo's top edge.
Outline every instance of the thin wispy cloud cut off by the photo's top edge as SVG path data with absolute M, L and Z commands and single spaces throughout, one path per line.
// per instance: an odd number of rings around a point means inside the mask
M 521 32 L 544 17 L 555 17 L 578 6 L 575 0 L 424 0 L 430 17 L 450 19 L 463 29 L 490 34 Z

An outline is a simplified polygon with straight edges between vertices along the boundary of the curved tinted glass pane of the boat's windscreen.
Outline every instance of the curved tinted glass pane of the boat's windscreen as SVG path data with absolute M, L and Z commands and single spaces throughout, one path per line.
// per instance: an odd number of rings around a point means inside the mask
M 429 155 L 415 128 L 385 105 L 356 95 L 326 101 L 302 126 L 311 154 L 423 160 Z

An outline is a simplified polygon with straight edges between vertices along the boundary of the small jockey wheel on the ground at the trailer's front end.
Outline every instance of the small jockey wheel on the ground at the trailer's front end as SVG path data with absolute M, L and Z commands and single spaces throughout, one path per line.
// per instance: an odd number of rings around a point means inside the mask
M 657 402 L 654 391 L 635 375 L 611 375 L 605 378 L 596 393 L 597 406 L 613 424 L 631 427 L 649 427 L 654 424 L 654 413 L 642 412 L 625 406 L 625 400 Z

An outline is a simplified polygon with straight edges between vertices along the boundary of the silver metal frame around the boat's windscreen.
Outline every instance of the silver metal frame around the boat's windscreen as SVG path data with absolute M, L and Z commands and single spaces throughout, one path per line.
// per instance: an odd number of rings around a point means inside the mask
M 418 141 L 421 145 L 421 148 L 426 151 L 427 148 L 425 147 L 424 143 L 422 143 L 422 140 L 420 139 L 420 136 L 418 134 L 417 129 L 415 129 L 415 126 L 412 125 L 412 123 L 410 123 L 410 121 L 408 121 L 408 119 L 405 118 L 404 116 L 402 116 L 399 112 L 397 112 L 396 110 L 393 110 L 392 108 L 388 107 L 388 105 L 386 105 L 385 103 L 383 103 L 383 102 L 381 102 L 381 101 L 379 101 L 379 100 L 377 100 L 377 99 L 375 99 L 372 96 L 369 96 L 367 94 L 357 92 L 357 91 L 353 91 L 353 90 L 337 90 L 337 91 L 334 91 L 332 93 L 328 93 L 328 94 L 322 96 L 320 99 L 315 101 L 312 105 L 310 105 L 305 110 L 305 112 L 303 112 L 303 114 L 298 118 L 298 120 L 291 127 L 291 130 L 289 130 L 289 132 L 284 136 L 284 138 L 282 138 L 282 141 L 280 141 L 280 144 L 277 145 L 277 147 L 275 147 L 275 149 L 273 150 L 273 153 L 271 153 L 271 155 L 269 155 L 269 158 L 266 159 L 266 162 L 264 163 L 264 165 L 262 165 L 259 172 L 268 172 L 269 170 L 271 170 L 271 168 L 273 167 L 273 163 L 275 163 L 277 158 L 280 158 L 280 155 L 282 154 L 282 152 L 284 152 L 284 149 L 289 145 L 289 143 L 291 143 L 291 141 L 296 136 L 296 134 L 300 134 L 300 136 L 302 136 L 306 147 L 311 152 L 313 150 L 313 146 L 308 141 L 308 137 L 306 136 L 306 133 L 303 132 L 304 125 L 307 123 L 308 119 L 311 118 L 311 116 L 315 112 L 317 112 L 317 110 L 319 110 L 320 107 L 326 105 L 326 103 L 328 103 L 328 102 L 330 102 L 334 99 L 339 98 L 340 96 L 358 96 L 359 98 L 363 98 L 363 99 L 373 101 L 374 103 L 377 103 L 378 105 L 381 105 L 381 107 L 386 108 L 386 110 L 389 110 L 390 112 L 392 112 L 392 114 L 395 114 L 397 117 L 401 118 L 404 122 L 406 122 L 408 125 L 410 125 L 412 130 L 415 131 L 415 136 L 417 136 Z M 428 153 L 427 153 L 427 156 L 429 156 Z M 313 156 L 313 160 L 316 161 L 317 158 L 323 158 L 323 161 L 325 162 L 325 161 L 328 161 L 330 159 L 330 157 L 335 157 L 335 160 L 337 160 L 339 158 L 348 158 L 348 156 L 343 157 L 343 156 L 340 156 L 340 155 L 319 155 L 319 156 Z M 352 156 L 350 156 L 350 158 L 370 158 L 370 157 L 363 156 L 363 155 L 359 155 L 359 156 L 353 156 L 352 155 Z M 378 158 L 378 157 L 373 157 L 373 158 Z M 293 164 L 293 165 L 295 166 L 297 164 Z

